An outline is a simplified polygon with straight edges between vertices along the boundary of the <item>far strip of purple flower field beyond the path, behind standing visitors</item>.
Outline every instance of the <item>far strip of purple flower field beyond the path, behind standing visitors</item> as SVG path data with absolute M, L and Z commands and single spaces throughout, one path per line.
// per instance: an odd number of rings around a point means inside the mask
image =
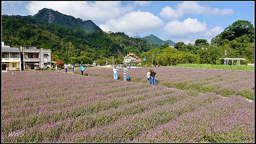
M 131 81 L 146 83 L 146 73 L 151 68 L 129 68 Z M 158 74 L 158 85 L 180 90 L 197 90 L 199 92 L 213 92 L 221 96 L 239 95 L 254 100 L 254 72 L 209 70 L 196 68 L 153 68 Z M 87 68 L 89 76 L 113 78 L 111 68 Z M 80 73 L 79 73 L 80 74 Z M 118 77 L 123 81 L 122 68 Z

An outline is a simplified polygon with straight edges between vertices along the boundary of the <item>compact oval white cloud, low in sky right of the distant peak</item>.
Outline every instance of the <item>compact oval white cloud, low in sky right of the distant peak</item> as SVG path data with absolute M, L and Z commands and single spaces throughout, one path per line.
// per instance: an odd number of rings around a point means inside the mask
M 197 19 L 187 18 L 183 22 L 174 20 L 167 23 L 164 32 L 169 36 L 187 37 L 188 34 L 196 34 L 207 31 L 206 23 L 199 22 Z

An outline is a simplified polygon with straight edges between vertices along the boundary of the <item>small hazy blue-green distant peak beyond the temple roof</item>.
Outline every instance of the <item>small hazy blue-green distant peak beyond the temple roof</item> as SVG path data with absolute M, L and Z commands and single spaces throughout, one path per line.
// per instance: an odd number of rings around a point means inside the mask
M 161 40 L 160 38 L 154 36 L 153 34 L 143 37 L 143 39 L 148 40 L 148 42 L 155 47 L 159 47 L 164 44 L 175 45 L 175 42 L 173 42 L 172 40 Z

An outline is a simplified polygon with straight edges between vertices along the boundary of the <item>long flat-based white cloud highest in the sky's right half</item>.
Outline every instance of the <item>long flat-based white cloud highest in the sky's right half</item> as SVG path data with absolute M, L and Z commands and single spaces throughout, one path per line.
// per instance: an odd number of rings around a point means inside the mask
M 176 9 L 165 6 L 162 8 L 160 15 L 168 20 L 177 20 L 178 18 L 183 17 L 185 14 L 228 15 L 233 14 L 233 12 L 233 9 L 211 8 L 209 6 L 200 6 L 197 2 L 185 1 L 177 4 Z

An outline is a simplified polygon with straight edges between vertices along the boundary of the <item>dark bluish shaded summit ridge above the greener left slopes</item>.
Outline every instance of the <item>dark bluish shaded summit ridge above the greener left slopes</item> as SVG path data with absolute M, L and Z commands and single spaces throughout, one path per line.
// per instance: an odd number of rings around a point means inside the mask
M 58 23 L 64 25 L 66 27 L 80 27 L 83 30 L 91 31 L 91 30 L 99 30 L 102 31 L 99 26 L 97 26 L 91 20 L 81 20 L 80 18 L 75 18 L 73 16 L 69 16 L 66 14 L 61 14 L 58 11 L 54 11 L 52 9 L 43 8 L 38 11 L 33 17 L 38 18 L 43 23 Z

